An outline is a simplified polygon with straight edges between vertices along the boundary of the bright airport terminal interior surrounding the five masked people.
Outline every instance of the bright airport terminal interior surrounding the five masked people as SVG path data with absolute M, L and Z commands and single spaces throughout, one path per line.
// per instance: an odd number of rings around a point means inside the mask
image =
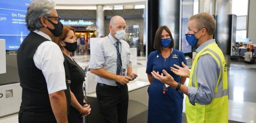
M 22 88 L 19 84 L 17 50 L 29 34 L 23 15 L 26 15 L 31 1 L 0 1 L 0 123 L 18 123 Z M 256 123 L 256 63 L 245 63 L 248 48 L 254 62 L 256 60 L 256 0 L 52 1 L 56 3 L 59 21 L 75 30 L 78 47 L 70 56 L 86 73 L 86 101 L 92 110 L 91 114 L 83 117 L 83 123 L 104 123 L 97 104 L 96 75 L 89 71 L 88 66 L 94 55 L 94 46 L 109 35 L 109 23 L 113 16 L 121 16 L 126 21 L 126 34 L 122 39 L 130 46 L 133 72 L 138 75 L 127 84 L 127 123 L 147 123 L 150 82 L 146 67 L 148 55 L 155 50 L 156 30 L 163 25 L 169 27 L 174 39 L 173 48 L 185 54 L 191 70 L 196 48 L 188 44 L 185 34 L 189 18 L 201 12 L 213 15 L 216 20 L 213 38 L 227 63 L 228 122 Z M 189 78 L 184 85 L 188 86 L 188 83 Z M 184 94 L 182 123 L 187 123 L 185 100 Z

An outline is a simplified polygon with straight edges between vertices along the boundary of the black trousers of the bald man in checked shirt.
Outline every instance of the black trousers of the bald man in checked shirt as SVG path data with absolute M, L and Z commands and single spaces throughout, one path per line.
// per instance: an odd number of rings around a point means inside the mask
M 96 86 L 100 113 L 105 123 L 127 123 L 128 87 Z

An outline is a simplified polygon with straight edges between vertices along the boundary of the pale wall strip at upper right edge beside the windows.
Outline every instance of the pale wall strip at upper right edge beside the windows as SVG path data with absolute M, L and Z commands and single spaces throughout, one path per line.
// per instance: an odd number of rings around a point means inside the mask
M 256 0 L 249 0 L 248 38 L 256 44 Z

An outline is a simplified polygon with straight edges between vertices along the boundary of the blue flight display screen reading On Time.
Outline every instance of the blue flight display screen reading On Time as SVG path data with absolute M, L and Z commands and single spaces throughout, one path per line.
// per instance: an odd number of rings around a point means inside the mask
M 6 40 L 6 54 L 16 54 L 29 34 L 26 27 L 27 6 L 32 0 L 0 0 L 0 39 Z

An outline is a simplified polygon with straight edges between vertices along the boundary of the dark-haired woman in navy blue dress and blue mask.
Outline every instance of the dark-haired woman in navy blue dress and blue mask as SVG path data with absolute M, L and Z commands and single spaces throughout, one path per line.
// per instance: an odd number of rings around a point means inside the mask
M 155 34 L 154 49 L 148 56 L 146 73 L 150 86 L 148 87 L 148 123 L 181 123 L 183 93 L 163 84 L 152 77 L 151 72 L 166 70 L 175 81 L 184 84 L 186 77 L 180 77 L 171 72 L 173 64 L 182 67 L 187 64 L 184 53 L 173 49 L 174 39 L 167 26 L 160 26 Z

